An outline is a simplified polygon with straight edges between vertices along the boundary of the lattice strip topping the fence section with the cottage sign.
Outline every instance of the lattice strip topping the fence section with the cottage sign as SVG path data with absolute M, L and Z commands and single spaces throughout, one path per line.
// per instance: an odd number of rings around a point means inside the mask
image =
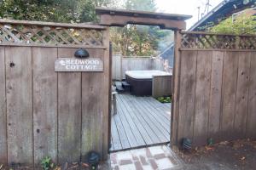
M 0 24 L 0 42 L 102 46 L 103 31 L 90 28 Z

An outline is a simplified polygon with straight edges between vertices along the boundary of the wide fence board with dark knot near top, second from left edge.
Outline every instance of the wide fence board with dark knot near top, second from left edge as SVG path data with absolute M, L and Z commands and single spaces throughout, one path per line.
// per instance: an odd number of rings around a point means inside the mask
M 5 54 L 8 161 L 32 165 L 32 48 L 6 47 Z

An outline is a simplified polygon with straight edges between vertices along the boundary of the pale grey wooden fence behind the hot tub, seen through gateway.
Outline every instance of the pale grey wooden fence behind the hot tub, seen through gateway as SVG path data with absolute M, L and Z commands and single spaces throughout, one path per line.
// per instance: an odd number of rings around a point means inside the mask
M 113 55 L 112 61 L 112 79 L 125 79 L 125 71 L 164 71 L 164 61 L 150 57 L 124 57 Z

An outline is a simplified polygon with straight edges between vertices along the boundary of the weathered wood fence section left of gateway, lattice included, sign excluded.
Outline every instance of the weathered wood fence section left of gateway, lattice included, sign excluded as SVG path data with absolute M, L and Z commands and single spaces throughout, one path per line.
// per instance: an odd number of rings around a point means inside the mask
M 38 165 L 108 156 L 108 27 L 0 20 L 0 162 Z M 55 72 L 86 48 L 102 72 Z

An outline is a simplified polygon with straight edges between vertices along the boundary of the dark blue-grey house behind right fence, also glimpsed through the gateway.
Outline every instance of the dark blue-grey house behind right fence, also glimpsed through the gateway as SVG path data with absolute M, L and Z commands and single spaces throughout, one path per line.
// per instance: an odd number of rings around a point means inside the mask
M 229 18 L 233 14 L 238 14 L 247 8 L 252 8 L 252 11 L 256 11 L 255 7 L 256 0 L 224 0 L 203 16 L 201 20 L 197 21 L 194 26 L 191 26 L 188 31 L 207 31 L 209 27 L 216 26 L 220 21 Z M 157 56 L 166 60 L 168 64 L 166 66 L 168 67 L 167 70 L 173 68 L 173 50 L 174 42 Z

